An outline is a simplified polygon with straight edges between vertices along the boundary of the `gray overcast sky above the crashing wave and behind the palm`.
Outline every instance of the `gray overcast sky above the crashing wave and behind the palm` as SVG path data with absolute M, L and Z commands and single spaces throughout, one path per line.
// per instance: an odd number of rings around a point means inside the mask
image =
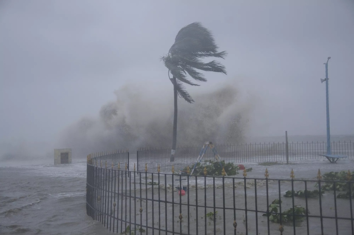
M 159 57 L 195 21 L 229 55 L 192 96 L 232 80 L 260 100 L 249 135 L 325 134 L 331 56 L 331 133 L 354 133 L 352 0 L 32 0 L 0 1 L 0 141 L 55 139 L 127 82 L 172 100 Z

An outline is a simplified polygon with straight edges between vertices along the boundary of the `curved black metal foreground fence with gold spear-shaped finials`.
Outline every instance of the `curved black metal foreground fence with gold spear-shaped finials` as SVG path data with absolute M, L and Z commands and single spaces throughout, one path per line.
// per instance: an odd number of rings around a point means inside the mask
M 341 180 L 320 171 L 317 180 L 297 180 L 293 171 L 272 179 L 268 170 L 264 178 L 187 177 L 160 166 L 129 171 L 120 156 L 103 160 L 113 165 L 87 159 L 87 214 L 115 233 L 354 235 L 354 172 Z

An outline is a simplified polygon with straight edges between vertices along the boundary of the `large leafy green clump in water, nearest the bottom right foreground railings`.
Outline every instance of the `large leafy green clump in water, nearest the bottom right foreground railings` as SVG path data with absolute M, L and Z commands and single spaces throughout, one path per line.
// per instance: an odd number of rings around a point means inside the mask
M 269 205 L 269 221 L 274 223 L 280 223 L 280 214 L 272 214 L 272 213 L 279 213 L 278 208 L 280 207 L 281 201 L 279 199 L 275 199 Z M 308 212 L 309 213 L 309 212 Z M 267 213 L 263 214 L 263 216 L 267 216 Z M 306 208 L 301 207 L 300 205 L 295 205 L 294 208 L 289 208 L 285 211 L 281 212 L 281 221 L 283 223 L 292 222 L 295 218 L 296 221 L 303 221 L 304 216 L 306 215 Z

